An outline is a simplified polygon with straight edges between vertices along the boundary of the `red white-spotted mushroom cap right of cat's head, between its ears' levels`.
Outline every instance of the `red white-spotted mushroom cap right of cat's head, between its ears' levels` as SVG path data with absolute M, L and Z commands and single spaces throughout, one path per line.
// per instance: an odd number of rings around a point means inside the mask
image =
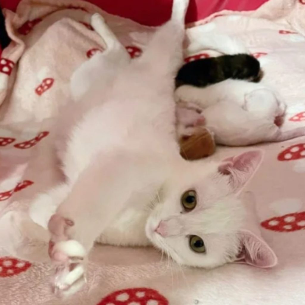
M 261 226 L 267 230 L 277 232 L 293 232 L 303 230 L 305 229 L 305 212 L 273 217 L 262 221 Z

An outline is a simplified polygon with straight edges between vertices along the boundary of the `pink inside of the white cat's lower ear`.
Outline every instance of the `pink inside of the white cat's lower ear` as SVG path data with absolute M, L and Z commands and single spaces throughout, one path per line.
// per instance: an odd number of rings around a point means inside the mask
M 271 268 L 278 263 L 275 253 L 261 237 L 251 231 L 242 230 L 239 232 L 239 238 L 242 251 L 237 263 L 260 268 Z

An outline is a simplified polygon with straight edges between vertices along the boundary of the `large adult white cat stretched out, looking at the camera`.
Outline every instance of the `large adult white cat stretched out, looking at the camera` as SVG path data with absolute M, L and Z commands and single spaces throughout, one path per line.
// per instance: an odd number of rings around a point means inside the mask
M 77 110 L 71 118 L 77 124 L 66 123 L 66 144 L 59 141 L 66 181 L 38 196 L 30 210 L 36 223 L 48 223 L 54 285 L 61 294 L 84 284 L 87 254 L 95 241 L 153 244 L 189 266 L 211 268 L 235 260 L 260 267 L 276 264 L 236 198 L 262 153 L 246 152 L 221 163 L 188 162 L 179 154 L 173 90 L 187 6 L 188 0 L 174 0 L 172 19 L 140 58 L 113 67 L 117 74 L 107 85 L 88 84 L 74 95 L 75 107 L 86 112 L 82 117 Z M 98 15 L 92 25 L 109 51 L 103 53 L 101 69 L 103 61 L 109 67 L 116 62 L 108 56 L 119 60 L 122 48 L 111 42 L 113 34 Z

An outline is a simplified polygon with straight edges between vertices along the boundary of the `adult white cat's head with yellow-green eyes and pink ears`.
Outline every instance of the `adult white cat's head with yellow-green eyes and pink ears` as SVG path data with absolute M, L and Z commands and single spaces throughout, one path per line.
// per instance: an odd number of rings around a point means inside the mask
M 251 203 L 237 198 L 262 160 L 250 151 L 221 163 L 185 162 L 160 192 L 146 235 L 177 263 L 213 268 L 240 261 L 271 267 L 277 258 L 260 237 Z

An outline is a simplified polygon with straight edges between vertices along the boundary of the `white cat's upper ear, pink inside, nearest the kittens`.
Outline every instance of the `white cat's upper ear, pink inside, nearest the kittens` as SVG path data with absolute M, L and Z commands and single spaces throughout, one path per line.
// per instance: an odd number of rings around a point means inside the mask
M 244 152 L 241 155 L 224 159 L 218 171 L 229 176 L 229 183 L 235 193 L 239 193 L 252 178 L 263 160 L 261 150 Z

